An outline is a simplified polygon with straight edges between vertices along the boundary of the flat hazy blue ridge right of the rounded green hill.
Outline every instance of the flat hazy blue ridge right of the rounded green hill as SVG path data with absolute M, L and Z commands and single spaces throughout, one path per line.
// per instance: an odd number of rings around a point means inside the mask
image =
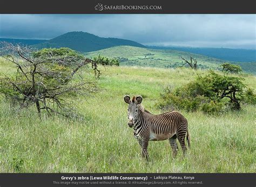
M 151 49 L 171 49 L 177 51 L 184 51 L 196 53 L 206 56 L 215 57 L 221 60 L 235 61 L 235 62 L 256 62 L 256 50 L 253 49 L 230 49 L 230 48 L 207 48 L 207 47 L 158 47 L 146 46 Z

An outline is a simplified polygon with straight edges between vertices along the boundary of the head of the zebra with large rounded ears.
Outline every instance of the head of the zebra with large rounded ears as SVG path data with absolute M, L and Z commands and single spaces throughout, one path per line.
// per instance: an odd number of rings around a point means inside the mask
M 129 104 L 128 107 L 128 119 L 129 119 L 129 123 L 128 126 L 129 127 L 133 127 L 134 124 L 136 124 L 137 119 L 138 119 L 138 105 L 140 103 L 142 103 L 142 96 L 133 96 L 132 100 L 130 100 L 130 96 L 129 95 L 125 95 L 124 96 L 124 101 L 125 103 Z

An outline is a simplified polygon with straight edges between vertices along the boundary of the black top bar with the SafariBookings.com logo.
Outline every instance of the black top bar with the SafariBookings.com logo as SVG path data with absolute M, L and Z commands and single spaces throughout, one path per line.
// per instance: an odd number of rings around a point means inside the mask
M 255 0 L 8 0 L 0 13 L 256 13 Z

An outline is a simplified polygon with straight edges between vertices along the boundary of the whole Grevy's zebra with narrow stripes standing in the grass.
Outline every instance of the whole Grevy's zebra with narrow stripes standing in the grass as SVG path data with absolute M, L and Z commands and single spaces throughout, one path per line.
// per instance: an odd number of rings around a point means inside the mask
M 159 115 L 151 114 L 140 105 L 142 96 L 133 96 L 132 100 L 130 100 L 130 96 L 125 95 L 124 100 L 125 103 L 129 104 L 128 125 L 133 127 L 134 137 L 142 147 L 143 157 L 146 157 L 147 160 L 149 159 L 147 154 L 149 141 L 167 139 L 169 139 L 173 155 L 176 156 L 178 151 L 177 138 L 183 154 L 186 154 L 185 138 L 187 139 L 188 147 L 190 147 L 190 135 L 187 130 L 187 120 L 184 116 L 176 111 Z

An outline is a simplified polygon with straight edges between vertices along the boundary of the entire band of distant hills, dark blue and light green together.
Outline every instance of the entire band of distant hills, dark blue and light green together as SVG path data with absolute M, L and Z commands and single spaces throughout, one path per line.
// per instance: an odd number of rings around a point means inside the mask
M 230 62 L 256 74 L 256 50 L 144 46 L 131 40 L 102 38 L 87 32 L 69 32 L 51 40 L 0 38 L 0 41 L 38 49 L 69 47 L 89 56 L 118 57 L 122 65 L 132 66 L 179 67 L 182 63 L 179 56 L 187 59 L 193 56 L 198 60 L 199 68 L 218 68 L 220 63 Z

